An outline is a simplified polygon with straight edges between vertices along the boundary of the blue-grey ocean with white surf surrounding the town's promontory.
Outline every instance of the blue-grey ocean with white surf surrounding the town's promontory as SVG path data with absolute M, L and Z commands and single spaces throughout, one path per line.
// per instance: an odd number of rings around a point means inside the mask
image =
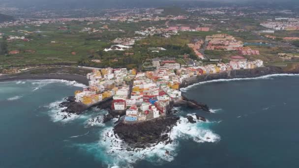
M 90 121 L 101 120 L 106 111 L 92 108 L 62 119 L 57 105 L 83 84 L 2 82 L 0 168 L 298 168 L 298 86 L 298 75 L 269 75 L 183 88 L 212 113 L 177 108 L 172 144 L 126 151 L 111 136 L 115 120 Z M 208 122 L 188 123 L 185 116 L 195 113 Z

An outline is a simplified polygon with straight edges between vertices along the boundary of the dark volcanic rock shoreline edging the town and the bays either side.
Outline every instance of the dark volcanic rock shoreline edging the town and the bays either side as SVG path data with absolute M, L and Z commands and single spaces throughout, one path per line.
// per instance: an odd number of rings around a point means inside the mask
M 286 71 L 279 67 L 260 67 L 255 69 L 242 69 L 242 70 L 232 70 L 217 74 L 207 74 L 200 75 L 195 77 L 190 77 L 185 79 L 181 84 L 180 88 L 187 87 L 192 84 L 211 81 L 211 80 L 219 80 L 219 79 L 235 79 L 235 78 L 255 78 L 270 74 L 298 74 L 299 67 L 296 67 L 292 70 Z M 18 77 L 15 79 L 29 79 L 31 76 L 27 77 Z M 80 80 L 74 79 L 73 77 L 78 77 L 78 75 L 72 76 L 71 74 L 43 74 L 42 76 L 34 76 L 36 78 L 33 79 L 63 79 L 63 80 L 72 80 L 77 81 L 83 84 L 88 84 L 87 79 L 83 76 L 80 76 Z M 66 78 L 67 77 L 67 78 Z M 82 79 L 81 79 L 82 78 Z M 31 78 L 32 79 L 32 78 Z M 3 80 L 3 79 L 2 79 Z M 7 80 L 7 79 L 4 79 Z M 0 79 L 1 81 L 1 79 Z M 76 113 L 82 114 L 86 112 L 90 107 L 96 107 L 98 109 L 105 109 L 108 111 L 107 114 L 103 116 L 103 120 L 98 120 L 98 122 L 108 122 L 113 118 L 120 118 L 120 116 L 125 115 L 125 111 L 115 111 L 111 110 L 112 98 L 106 99 L 98 104 L 94 104 L 92 106 L 86 106 L 82 103 L 75 102 L 74 97 L 68 97 L 65 102 L 61 103 L 59 106 L 64 108 L 63 112 L 67 113 Z M 121 140 L 124 140 L 129 144 L 132 148 L 145 148 L 157 144 L 159 142 L 164 141 L 164 143 L 171 143 L 172 140 L 169 138 L 168 133 L 172 130 L 174 126 L 179 122 L 179 117 L 175 115 L 176 111 L 173 109 L 174 107 L 188 107 L 200 110 L 201 112 L 209 112 L 208 105 L 204 103 L 198 103 L 194 100 L 189 100 L 184 95 L 180 100 L 171 101 L 168 106 L 168 113 L 164 117 L 144 121 L 137 123 L 124 123 L 124 122 L 116 122 L 117 124 L 114 127 L 114 134 L 116 137 L 119 137 Z M 195 115 L 196 118 L 193 118 L 190 115 L 186 115 L 188 122 L 196 123 L 198 121 L 207 121 L 207 119 L 198 113 Z M 67 115 L 65 116 L 67 118 Z

